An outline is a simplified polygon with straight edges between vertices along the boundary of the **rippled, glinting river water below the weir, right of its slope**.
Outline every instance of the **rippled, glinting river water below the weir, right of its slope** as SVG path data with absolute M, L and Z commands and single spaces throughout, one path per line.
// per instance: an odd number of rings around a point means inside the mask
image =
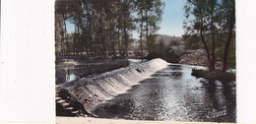
M 235 122 L 235 86 L 196 79 L 192 68 L 203 67 L 169 65 L 92 112 L 99 118 Z

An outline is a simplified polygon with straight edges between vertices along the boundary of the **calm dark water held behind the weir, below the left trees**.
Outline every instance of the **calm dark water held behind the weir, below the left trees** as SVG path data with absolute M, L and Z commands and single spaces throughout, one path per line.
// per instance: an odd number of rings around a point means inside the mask
M 62 60 L 64 62 L 74 61 L 74 60 Z M 56 85 L 62 84 L 64 82 L 71 82 L 85 77 L 93 77 L 98 74 L 115 70 L 121 67 L 126 67 L 129 63 L 136 63 L 142 61 L 141 59 L 124 60 L 124 59 L 114 59 L 114 60 L 84 60 L 80 65 L 71 67 L 60 67 L 56 68 Z M 146 61 L 146 60 L 144 60 Z

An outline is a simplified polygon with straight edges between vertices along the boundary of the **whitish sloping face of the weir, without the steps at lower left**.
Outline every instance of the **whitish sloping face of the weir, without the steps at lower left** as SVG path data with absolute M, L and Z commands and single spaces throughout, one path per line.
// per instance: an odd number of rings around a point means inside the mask
M 100 74 L 93 78 L 84 78 L 75 83 L 65 83 L 60 87 L 80 95 L 87 95 L 99 102 L 113 98 L 120 93 L 126 93 L 135 85 L 151 77 L 157 71 L 167 67 L 169 63 L 162 59 L 154 59 L 144 63 L 133 64 L 125 68 L 120 68 L 110 72 Z M 80 87 L 79 92 L 76 92 Z M 83 101 L 81 101 L 83 103 Z M 92 106 L 95 107 L 96 104 Z

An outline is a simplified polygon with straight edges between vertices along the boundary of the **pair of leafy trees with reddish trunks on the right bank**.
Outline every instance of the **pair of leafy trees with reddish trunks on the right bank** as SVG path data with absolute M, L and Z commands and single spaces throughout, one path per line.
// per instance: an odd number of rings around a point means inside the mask
M 184 22 L 184 28 L 187 33 L 197 33 L 205 46 L 209 69 L 215 70 L 216 61 L 216 39 L 221 39 L 224 43 L 223 71 L 226 70 L 228 47 L 231 41 L 235 25 L 234 0 L 188 0 L 184 6 L 186 19 L 190 22 Z M 192 14 L 194 19 L 189 19 Z M 227 38 L 218 37 L 227 34 Z M 209 50 L 205 36 L 211 36 L 212 51 Z M 225 41 L 226 40 L 226 41 Z M 220 43 L 219 43 L 220 44 Z M 212 55 L 210 55 L 210 52 Z

